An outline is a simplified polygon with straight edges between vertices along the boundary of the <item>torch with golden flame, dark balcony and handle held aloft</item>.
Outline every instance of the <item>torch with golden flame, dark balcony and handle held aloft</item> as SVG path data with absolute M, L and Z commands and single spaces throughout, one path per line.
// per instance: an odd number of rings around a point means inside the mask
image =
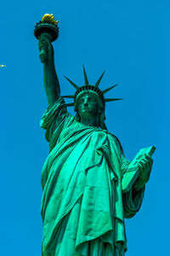
M 54 42 L 59 37 L 58 20 L 54 20 L 54 15 L 43 15 L 34 29 L 34 35 L 39 40 L 41 37 L 47 37 L 50 42 Z M 40 51 L 40 60 L 42 63 L 47 61 L 48 46 L 44 45 Z

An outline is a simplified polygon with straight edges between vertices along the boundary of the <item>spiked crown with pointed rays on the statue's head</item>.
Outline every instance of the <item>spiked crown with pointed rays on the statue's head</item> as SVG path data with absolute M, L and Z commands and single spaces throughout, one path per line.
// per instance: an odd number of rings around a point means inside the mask
M 122 100 L 122 98 L 107 98 L 107 99 L 105 99 L 105 97 L 104 97 L 104 94 L 106 92 L 108 92 L 109 90 L 113 89 L 118 84 L 115 84 L 115 85 L 113 85 L 113 86 L 111 86 L 111 87 L 109 87 L 109 88 L 107 88 L 105 90 L 99 90 L 99 83 L 101 82 L 101 79 L 103 78 L 103 76 L 105 74 L 105 71 L 101 74 L 101 76 L 99 77 L 98 81 L 94 85 L 88 83 L 88 76 L 87 76 L 87 73 L 86 73 L 86 70 L 85 70 L 84 66 L 83 66 L 83 73 L 84 73 L 85 84 L 82 85 L 81 87 L 79 87 L 77 84 L 75 84 L 70 79 L 65 77 L 65 79 L 67 79 L 74 86 L 74 88 L 77 90 L 74 96 L 63 96 L 65 98 L 72 98 L 72 99 L 74 99 L 74 102 L 66 104 L 68 107 L 75 106 L 75 104 L 77 102 L 77 98 L 79 96 L 81 96 L 81 94 L 83 92 L 86 92 L 86 91 L 92 92 L 96 96 L 98 96 L 100 101 L 103 103 L 104 107 L 105 107 L 105 102 L 115 102 L 115 101 Z

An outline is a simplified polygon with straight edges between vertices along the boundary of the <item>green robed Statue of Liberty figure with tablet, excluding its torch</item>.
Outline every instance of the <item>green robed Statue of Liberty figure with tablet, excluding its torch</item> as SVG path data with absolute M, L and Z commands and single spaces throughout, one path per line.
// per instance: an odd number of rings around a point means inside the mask
M 39 38 L 46 49 L 43 62 L 48 109 L 41 127 L 49 143 L 42 167 L 42 256 L 123 256 L 127 251 L 124 218 L 132 218 L 142 204 L 150 177 L 153 147 L 134 160 L 125 158 L 118 138 L 105 125 L 105 93 L 99 83 L 84 84 L 74 96 L 60 96 L 54 49 L 48 35 Z M 66 104 L 64 98 L 72 98 Z M 67 112 L 74 106 L 75 116 Z

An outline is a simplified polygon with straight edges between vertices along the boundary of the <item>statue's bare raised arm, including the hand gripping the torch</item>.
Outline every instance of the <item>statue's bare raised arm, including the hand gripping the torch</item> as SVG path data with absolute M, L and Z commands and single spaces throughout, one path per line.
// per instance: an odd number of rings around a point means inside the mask
M 47 54 L 45 61 L 42 61 L 41 55 L 40 60 L 43 62 L 43 83 L 50 108 L 60 96 L 59 79 L 54 67 L 54 49 L 49 38 L 45 35 L 39 39 L 38 46 L 40 50 L 43 48 Z

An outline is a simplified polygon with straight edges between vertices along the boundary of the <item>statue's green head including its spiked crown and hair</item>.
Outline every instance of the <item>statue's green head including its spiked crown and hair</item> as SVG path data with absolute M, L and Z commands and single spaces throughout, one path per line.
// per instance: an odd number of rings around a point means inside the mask
M 75 112 L 77 113 L 77 121 L 81 121 L 83 117 L 91 117 L 99 119 L 99 127 L 107 129 L 105 126 L 105 102 L 117 101 L 122 99 L 105 99 L 104 94 L 114 88 L 117 84 L 111 86 L 106 90 L 99 90 L 99 83 L 104 75 L 100 76 L 99 80 L 95 85 L 88 84 L 88 77 L 83 67 L 85 85 L 79 87 L 74 84 L 70 79 L 67 79 L 76 89 L 74 96 L 64 96 L 67 98 L 74 98 L 74 103 L 67 104 L 67 106 L 74 106 Z

